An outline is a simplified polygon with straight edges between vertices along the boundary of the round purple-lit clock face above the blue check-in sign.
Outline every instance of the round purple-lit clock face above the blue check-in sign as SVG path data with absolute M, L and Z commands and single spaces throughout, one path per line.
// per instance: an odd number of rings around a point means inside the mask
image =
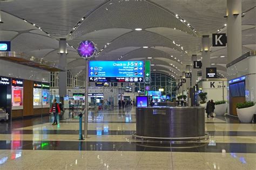
M 90 40 L 85 40 L 80 42 L 77 52 L 80 56 L 83 58 L 89 58 L 91 57 L 96 51 L 95 45 Z

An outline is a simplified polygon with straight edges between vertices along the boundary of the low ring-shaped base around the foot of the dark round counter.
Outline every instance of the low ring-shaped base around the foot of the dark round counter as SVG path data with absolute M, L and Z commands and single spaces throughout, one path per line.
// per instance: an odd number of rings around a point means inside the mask
M 208 134 L 200 137 L 186 137 L 186 138 L 159 138 L 159 137 L 145 137 L 138 136 L 136 133 L 132 134 L 132 138 L 138 139 L 144 142 L 151 143 L 171 143 L 171 144 L 185 144 L 185 143 L 195 143 L 208 140 Z

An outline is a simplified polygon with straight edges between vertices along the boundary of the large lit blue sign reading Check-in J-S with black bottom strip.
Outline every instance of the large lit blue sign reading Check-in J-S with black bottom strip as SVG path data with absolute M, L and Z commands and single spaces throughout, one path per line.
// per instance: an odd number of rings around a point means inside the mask
M 89 61 L 90 82 L 143 82 L 144 61 Z

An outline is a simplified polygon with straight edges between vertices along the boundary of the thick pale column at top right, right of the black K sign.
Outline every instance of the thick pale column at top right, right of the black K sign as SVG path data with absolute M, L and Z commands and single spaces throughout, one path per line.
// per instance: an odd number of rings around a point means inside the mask
M 242 2 L 227 0 L 227 62 L 242 55 Z

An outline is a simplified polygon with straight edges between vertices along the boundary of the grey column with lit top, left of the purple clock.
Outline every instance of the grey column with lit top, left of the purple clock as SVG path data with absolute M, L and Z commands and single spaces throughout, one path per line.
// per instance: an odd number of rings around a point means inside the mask
M 65 68 L 65 72 L 59 72 L 59 97 L 63 98 L 66 96 L 67 87 L 67 70 L 66 70 L 66 55 L 68 51 L 66 48 L 66 39 L 59 40 L 59 66 Z

